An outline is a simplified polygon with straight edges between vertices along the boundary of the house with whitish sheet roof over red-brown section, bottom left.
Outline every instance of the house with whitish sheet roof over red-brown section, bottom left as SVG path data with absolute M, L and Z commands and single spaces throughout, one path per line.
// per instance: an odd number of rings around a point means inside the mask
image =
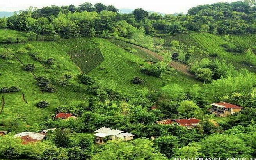
M 44 139 L 45 135 L 41 133 L 34 133 L 34 132 L 21 132 L 19 134 L 16 134 L 13 136 L 13 138 L 21 138 L 24 141 L 23 144 L 29 143 L 29 142 L 38 142 Z

